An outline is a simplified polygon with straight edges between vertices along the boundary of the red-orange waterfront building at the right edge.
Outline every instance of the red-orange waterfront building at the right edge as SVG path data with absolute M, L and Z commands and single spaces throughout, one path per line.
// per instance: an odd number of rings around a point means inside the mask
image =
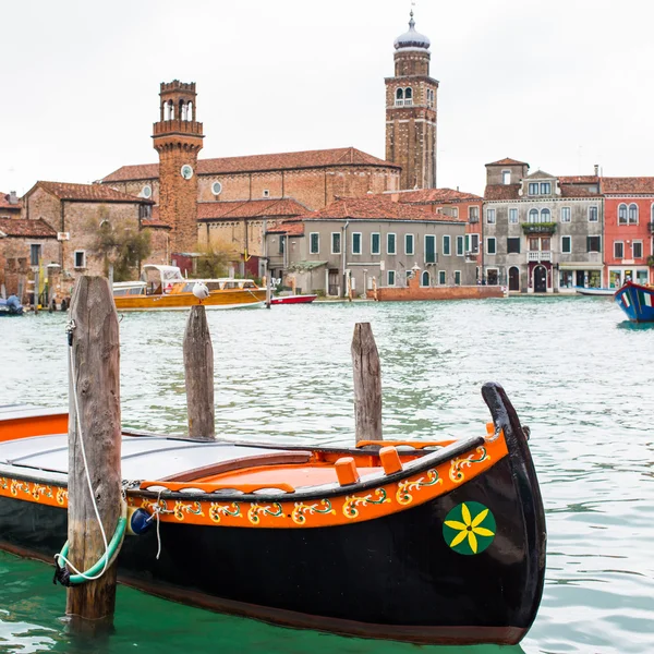
M 654 178 L 601 178 L 604 286 L 654 282 Z

